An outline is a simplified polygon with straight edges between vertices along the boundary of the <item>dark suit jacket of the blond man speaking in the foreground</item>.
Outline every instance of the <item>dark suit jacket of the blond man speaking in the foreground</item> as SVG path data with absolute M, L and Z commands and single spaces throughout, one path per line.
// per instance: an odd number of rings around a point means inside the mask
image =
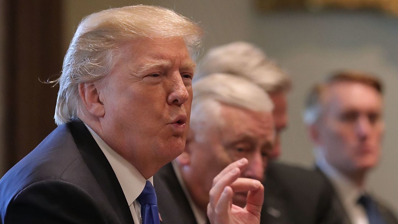
M 131 224 L 113 169 L 82 122 L 57 127 L 0 180 L 1 224 Z

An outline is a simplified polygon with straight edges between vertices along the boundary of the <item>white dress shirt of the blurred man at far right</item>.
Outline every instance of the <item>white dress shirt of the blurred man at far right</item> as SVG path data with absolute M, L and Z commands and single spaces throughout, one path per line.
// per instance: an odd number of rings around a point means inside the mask
M 324 156 L 317 156 L 316 165 L 332 182 L 351 223 L 369 224 L 365 208 L 358 203 L 358 199 L 363 195 L 365 189 L 359 188 L 353 181 L 347 179 L 336 168 L 331 166 Z

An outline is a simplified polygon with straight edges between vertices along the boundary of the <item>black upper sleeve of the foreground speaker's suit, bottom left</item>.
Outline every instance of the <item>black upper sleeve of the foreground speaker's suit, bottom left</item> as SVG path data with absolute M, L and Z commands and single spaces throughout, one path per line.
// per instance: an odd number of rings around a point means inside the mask
M 37 181 L 10 201 L 4 224 L 106 223 L 93 197 L 74 183 L 60 179 Z

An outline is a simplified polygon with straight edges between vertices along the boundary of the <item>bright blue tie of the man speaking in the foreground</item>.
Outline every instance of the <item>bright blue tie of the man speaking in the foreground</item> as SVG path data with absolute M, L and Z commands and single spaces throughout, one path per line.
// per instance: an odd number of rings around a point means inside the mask
M 141 205 L 142 224 L 160 224 L 158 200 L 152 183 L 146 181 L 144 190 L 138 196 L 137 201 Z

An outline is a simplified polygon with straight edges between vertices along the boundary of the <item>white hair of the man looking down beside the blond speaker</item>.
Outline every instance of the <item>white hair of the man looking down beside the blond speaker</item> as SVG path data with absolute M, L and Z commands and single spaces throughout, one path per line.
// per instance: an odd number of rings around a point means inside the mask
M 269 95 L 259 86 L 245 78 L 231 74 L 211 74 L 193 84 L 193 100 L 190 127 L 203 132 L 206 124 L 222 125 L 221 105 L 258 112 L 272 112 L 273 103 Z M 244 121 L 242 121 L 244 122 Z

